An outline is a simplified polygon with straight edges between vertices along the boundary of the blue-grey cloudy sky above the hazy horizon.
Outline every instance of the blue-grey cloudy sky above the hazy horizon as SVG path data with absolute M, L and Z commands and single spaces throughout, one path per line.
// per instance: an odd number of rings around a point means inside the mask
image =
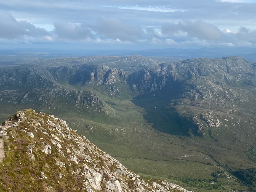
M 0 0 L 0 49 L 256 47 L 256 0 Z

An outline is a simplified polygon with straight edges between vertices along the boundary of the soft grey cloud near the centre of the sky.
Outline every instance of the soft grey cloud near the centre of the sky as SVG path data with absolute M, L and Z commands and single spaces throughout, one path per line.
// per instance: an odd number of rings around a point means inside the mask
M 145 33 L 139 26 L 124 23 L 117 18 L 102 17 L 95 26 L 95 31 L 106 38 L 119 39 L 120 41 L 135 42 Z

